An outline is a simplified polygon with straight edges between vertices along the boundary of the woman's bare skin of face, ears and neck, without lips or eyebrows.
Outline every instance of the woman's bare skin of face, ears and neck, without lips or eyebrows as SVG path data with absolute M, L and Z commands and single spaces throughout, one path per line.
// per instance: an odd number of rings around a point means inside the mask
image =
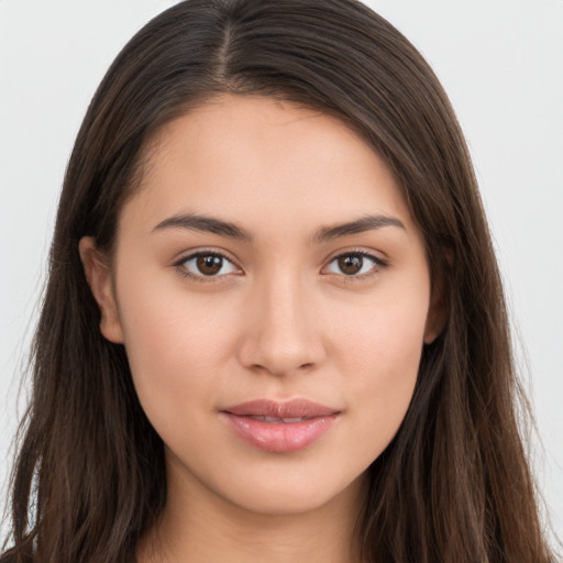
M 252 240 L 162 225 L 187 213 Z M 367 214 L 401 225 L 316 238 Z M 229 260 L 206 277 L 186 261 L 195 252 Z M 335 257 L 357 264 L 358 252 L 373 258 L 344 274 Z M 151 145 L 111 261 L 89 238 L 80 254 L 101 331 L 125 345 L 166 448 L 167 505 L 139 561 L 353 561 L 365 472 L 405 417 L 440 318 L 421 233 L 382 158 L 335 118 L 222 96 Z M 340 415 L 305 450 L 267 452 L 220 416 L 258 398 Z

